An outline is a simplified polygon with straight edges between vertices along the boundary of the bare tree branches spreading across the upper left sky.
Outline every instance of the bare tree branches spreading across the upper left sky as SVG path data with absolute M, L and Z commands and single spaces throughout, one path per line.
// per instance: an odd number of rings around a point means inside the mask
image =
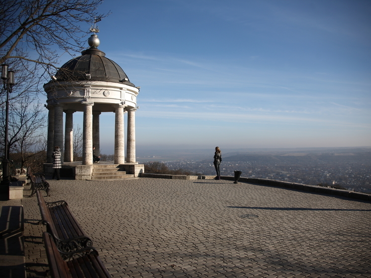
M 103 0 L 0 0 L 0 64 L 16 60 L 32 62 L 32 74 L 55 72 L 57 48 L 67 53 L 81 50 L 81 23 L 91 23 Z M 10 61 L 10 62 L 9 62 Z

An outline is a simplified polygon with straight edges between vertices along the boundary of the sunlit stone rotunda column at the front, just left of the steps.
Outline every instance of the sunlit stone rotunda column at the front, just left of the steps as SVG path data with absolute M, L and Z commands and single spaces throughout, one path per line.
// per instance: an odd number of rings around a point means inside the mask
M 93 102 L 82 101 L 83 121 L 83 165 L 93 164 Z

